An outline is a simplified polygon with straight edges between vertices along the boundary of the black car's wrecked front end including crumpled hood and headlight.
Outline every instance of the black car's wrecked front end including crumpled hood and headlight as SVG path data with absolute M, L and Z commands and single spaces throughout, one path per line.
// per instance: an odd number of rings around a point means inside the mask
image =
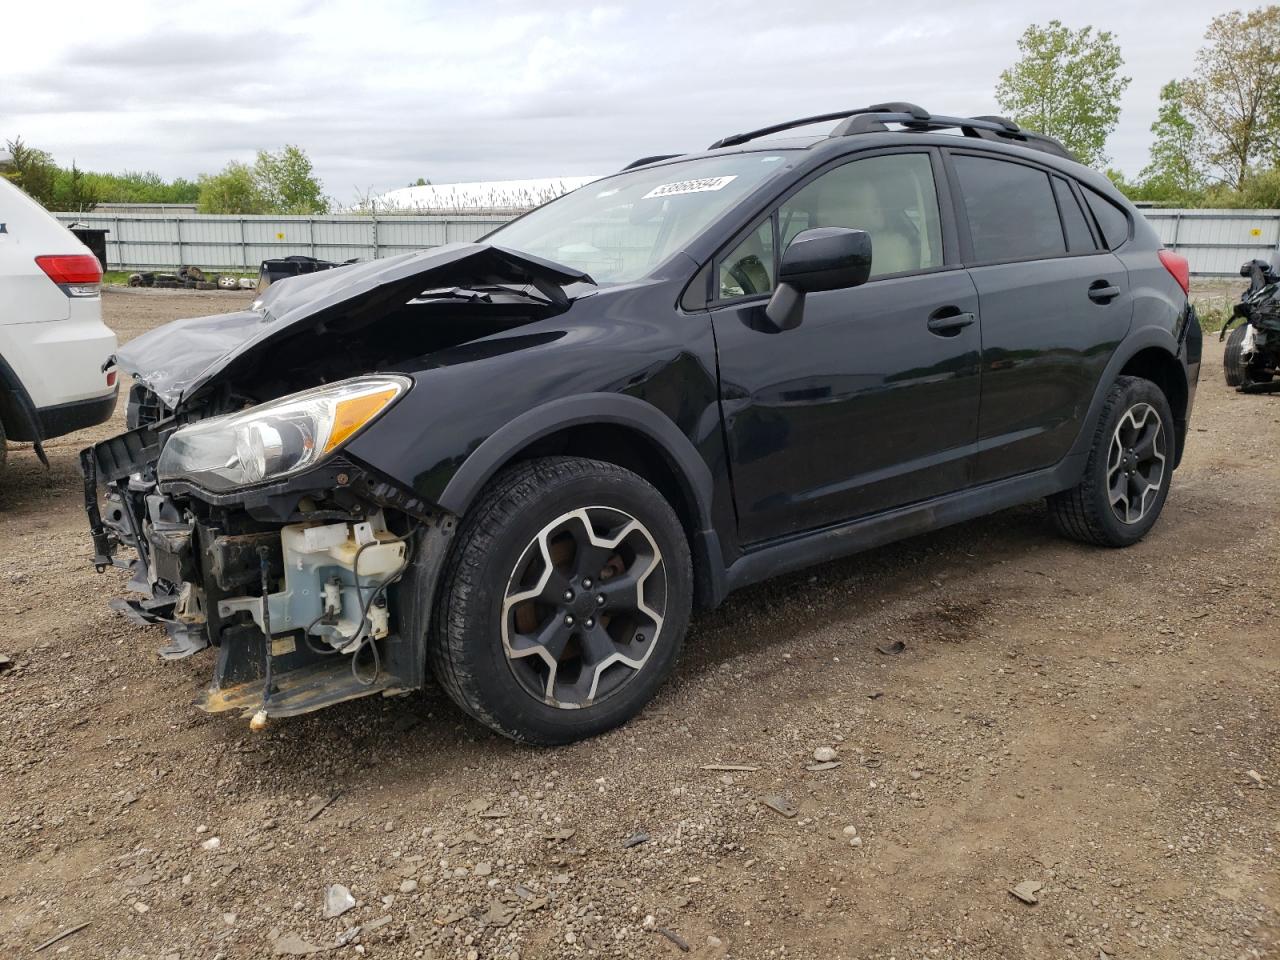
M 81 454 L 93 562 L 132 572 L 142 598 L 114 605 L 165 627 L 164 657 L 218 649 L 205 709 L 265 719 L 422 685 L 456 518 L 348 453 L 421 389 L 370 371 L 556 316 L 575 285 L 590 278 L 453 243 L 280 280 L 120 349 L 129 431 Z

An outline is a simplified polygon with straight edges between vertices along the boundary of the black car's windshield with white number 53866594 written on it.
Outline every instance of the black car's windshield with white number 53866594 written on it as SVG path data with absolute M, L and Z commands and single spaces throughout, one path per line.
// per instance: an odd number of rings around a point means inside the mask
M 630 283 L 786 166 L 786 151 L 777 151 L 623 173 L 579 187 L 489 239 L 577 268 L 602 285 Z

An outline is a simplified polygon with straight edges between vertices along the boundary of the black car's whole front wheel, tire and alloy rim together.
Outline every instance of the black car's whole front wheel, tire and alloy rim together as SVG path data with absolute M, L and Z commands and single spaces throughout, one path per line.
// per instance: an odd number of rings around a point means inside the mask
M 463 517 L 428 659 L 475 719 L 521 742 L 568 744 L 653 698 L 691 603 L 689 543 L 662 494 L 612 463 L 532 460 Z

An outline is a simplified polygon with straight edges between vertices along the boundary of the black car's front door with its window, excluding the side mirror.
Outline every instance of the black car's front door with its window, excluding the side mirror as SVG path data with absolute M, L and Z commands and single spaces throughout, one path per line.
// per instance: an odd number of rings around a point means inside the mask
M 941 156 L 864 156 L 800 184 L 716 264 L 712 317 L 739 536 L 768 540 L 969 483 L 978 297 L 951 253 Z M 872 279 L 763 323 L 778 252 L 813 227 L 865 229 Z M 947 244 L 945 248 L 945 238 Z

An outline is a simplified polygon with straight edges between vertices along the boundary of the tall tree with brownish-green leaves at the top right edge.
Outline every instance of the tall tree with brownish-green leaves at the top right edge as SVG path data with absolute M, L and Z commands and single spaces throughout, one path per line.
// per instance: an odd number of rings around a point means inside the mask
M 1216 178 L 1242 189 L 1258 161 L 1271 165 L 1280 134 L 1280 6 L 1215 17 L 1204 40 L 1183 104 Z

